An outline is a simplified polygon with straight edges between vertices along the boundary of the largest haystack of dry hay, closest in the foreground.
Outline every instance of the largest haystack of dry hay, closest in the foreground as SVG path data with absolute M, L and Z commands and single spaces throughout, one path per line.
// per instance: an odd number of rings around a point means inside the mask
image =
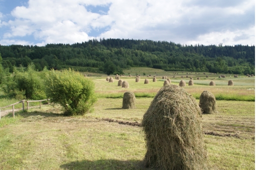
M 142 120 L 146 167 L 207 169 L 201 110 L 195 98 L 177 85 L 162 87 Z

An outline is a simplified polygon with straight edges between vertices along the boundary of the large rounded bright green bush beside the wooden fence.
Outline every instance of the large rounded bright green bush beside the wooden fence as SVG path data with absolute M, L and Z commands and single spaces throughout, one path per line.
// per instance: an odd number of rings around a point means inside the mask
M 94 83 L 74 70 L 51 70 L 46 79 L 47 95 L 60 104 L 66 115 L 84 115 L 96 102 Z

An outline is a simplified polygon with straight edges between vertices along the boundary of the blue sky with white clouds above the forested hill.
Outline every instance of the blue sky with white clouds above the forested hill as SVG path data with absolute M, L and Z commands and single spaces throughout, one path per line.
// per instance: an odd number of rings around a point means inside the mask
M 255 45 L 254 0 L 0 0 L 0 44 L 93 38 Z

